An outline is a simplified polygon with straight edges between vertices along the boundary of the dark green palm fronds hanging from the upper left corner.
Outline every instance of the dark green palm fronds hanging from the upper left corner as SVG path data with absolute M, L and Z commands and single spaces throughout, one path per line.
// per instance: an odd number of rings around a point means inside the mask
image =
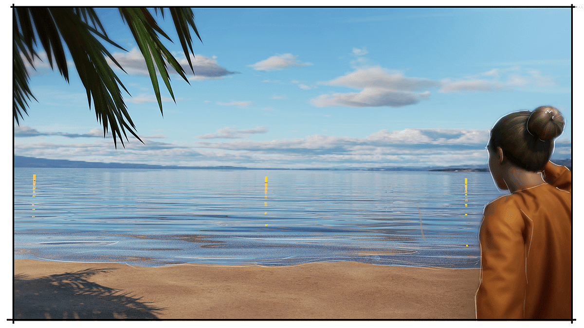
M 159 9 L 164 19 L 164 8 Z M 152 87 L 154 88 L 162 113 L 162 100 L 158 86 L 157 70 L 173 100 L 175 97 L 172 93 L 166 63 L 168 62 L 188 83 L 189 81 L 185 76 L 185 71 L 159 40 L 158 35 L 168 40 L 171 39 L 158 26 L 158 23 L 146 8 L 120 8 L 119 10 L 122 19 L 130 27 L 130 31 L 140 51 L 144 55 L 152 81 Z M 158 13 L 158 8 L 155 8 L 155 13 Z M 193 70 L 193 65 L 187 51 L 188 45 L 190 52 L 194 55 L 189 26 L 197 34 L 199 40 L 201 39 L 196 26 L 194 26 L 193 12 L 190 8 L 172 8 L 171 15 L 178 32 L 180 44 L 185 51 L 190 68 Z M 96 118 L 100 124 L 103 124 L 104 137 L 108 128 L 110 128 L 116 148 L 117 138 L 120 138 L 121 144 L 124 146 L 122 134 L 127 140 L 127 129 L 135 138 L 142 142 L 134 131 L 134 123 L 127 112 L 126 104 L 124 103 L 119 87 L 121 86 L 128 95 L 130 93 L 113 72 L 106 58 L 109 58 L 120 69 L 124 69 L 113 55 L 106 50 L 103 44 L 100 43 L 96 36 L 100 40 L 127 51 L 109 39 L 106 30 L 103 28 L 93 8 L 19 7 L 13 9 L 14 46 L 12 55 L 14 102 L 12 111 L 17 124 L 19 124 L 18 116 L 23 118 L 21 111 L 27 114 L 27 100 L 30 100 L 30 97 L 36 100 L 29 89 L 29 74 L 22 57 L 26 58 L 30 66 L 34 69 L 34 57 L 40 59 L 35 51 L 38 39 L 47 54 L 51 68 L 53 68 L 54 63 L 60 74 L 66 81 L 69 81 L 69 70 L 64 49 L 67 47 L 72 61 L 75 64 L 75 69 L 77 69 L 79 74 L 79 78 L 85 87 L 89 108 L 91 109 L 91 103 L 93 101 Z

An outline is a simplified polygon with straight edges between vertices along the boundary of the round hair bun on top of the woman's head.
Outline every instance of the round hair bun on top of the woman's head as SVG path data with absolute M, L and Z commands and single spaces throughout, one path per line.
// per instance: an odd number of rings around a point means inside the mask
M 564 131 L 564 117 L 551 106 L 537 107 L 527 120 L 527 131 L 543 141 L 557 138 Z

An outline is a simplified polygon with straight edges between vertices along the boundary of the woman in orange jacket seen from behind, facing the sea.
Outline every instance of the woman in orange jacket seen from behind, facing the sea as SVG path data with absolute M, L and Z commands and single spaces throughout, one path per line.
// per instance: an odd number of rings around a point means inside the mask
M 489 169 L 511 194 L 485 206 L 477 319 L 571 318 L 572 173 L 550 162 L 563 130 L 551 106 L 510 113 L 491 130 Z

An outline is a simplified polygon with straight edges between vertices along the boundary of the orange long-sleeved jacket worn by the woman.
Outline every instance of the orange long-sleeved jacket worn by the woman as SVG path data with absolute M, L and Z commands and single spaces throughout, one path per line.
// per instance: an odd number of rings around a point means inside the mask
M 572 173 L 548 162 L 547 183 L 485 206 L 477 319 L 570 319 Z

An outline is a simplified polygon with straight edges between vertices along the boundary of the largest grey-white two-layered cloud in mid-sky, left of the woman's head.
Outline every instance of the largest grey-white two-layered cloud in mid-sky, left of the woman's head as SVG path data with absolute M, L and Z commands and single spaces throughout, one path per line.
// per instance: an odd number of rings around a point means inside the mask
M 321 95 L 311 100 L 314 106 L 401 107 L 418 103 L 430 95 L 427 90 L 421 93 L 416 91 L 439 85 L 430 79 L 408 78 L 399 73 L 391 74 L 381 67 L 357 69 L 323 84 L 362 90 Z

